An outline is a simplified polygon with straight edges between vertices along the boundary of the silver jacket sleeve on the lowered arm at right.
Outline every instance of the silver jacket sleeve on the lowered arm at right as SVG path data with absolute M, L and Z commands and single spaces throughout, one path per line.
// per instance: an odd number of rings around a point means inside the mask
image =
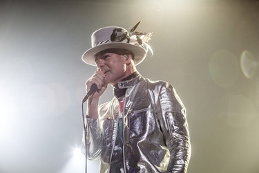
M 157 116 L 170 151 L 167 172 L 184 173 L 191 157 L 186 109 L 171 84 L 164 82 L 157 98 Z

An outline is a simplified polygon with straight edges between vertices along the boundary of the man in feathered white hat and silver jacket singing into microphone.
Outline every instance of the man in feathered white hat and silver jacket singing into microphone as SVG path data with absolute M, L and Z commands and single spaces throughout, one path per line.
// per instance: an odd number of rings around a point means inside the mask
M 138 73 L 151 33 L 135 31 L 137 25 L 96 30 L 92 48 L 82 56 L 97 66 L 86 91 L 93 84 L 99 89 L 87 100 L 86 154 L 100 158 L 100 172 L 186 172 L 191 156 L 186 109 L 171 84 Z M 99 105 L 108 84 L 114 97 Z

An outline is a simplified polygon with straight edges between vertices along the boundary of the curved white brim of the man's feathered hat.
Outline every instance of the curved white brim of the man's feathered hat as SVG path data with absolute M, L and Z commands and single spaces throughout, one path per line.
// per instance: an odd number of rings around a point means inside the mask
M 100 44 L 93 48 L 89 48 L 81 57 L 81 59 L 89 65 L 96 66 L 95 64 L 95 55 L 100 51 L 104 51 L 108 48 L 123 48 L 128 51 L 131 51 L 135 55 L 135 63 L 140 64 L 146 57 L 146 51 L 140 46 L 135 46 L 133 44 L 128 44 L 124 42 L 109 42 L 107 44 Z

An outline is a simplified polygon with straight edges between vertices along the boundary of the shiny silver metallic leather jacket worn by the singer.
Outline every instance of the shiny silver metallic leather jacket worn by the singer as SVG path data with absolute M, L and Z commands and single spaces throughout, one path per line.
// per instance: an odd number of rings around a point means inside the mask
M 186 172 L 191 144 L 186 110 L 167 82 L 141 75 L 119 82 L 124 97 L 124 172 Z M 109 165 L 117 135 L 119 102 L 99 107 L 99 120 L 87 118 L 88 159 L 100 158 L 100 172 Z

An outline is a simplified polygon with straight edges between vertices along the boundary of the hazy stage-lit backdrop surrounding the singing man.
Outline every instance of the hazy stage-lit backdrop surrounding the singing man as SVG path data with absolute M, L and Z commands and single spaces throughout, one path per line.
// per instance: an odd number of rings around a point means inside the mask
M 187 109 L 188 172 L 259 172 L 259 1 L 1 0 L 1 173 L 84 172 L 74 149 L 95 67 L 81 55 L 98 28 L 138 21 L 154 53 L 137 69 L 173 84 Z

